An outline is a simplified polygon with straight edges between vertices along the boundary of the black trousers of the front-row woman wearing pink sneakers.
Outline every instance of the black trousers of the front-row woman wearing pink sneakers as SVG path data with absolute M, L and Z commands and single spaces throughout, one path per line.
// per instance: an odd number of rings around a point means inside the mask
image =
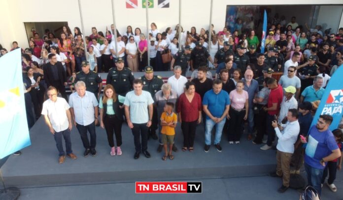
M 117 146 L 121 146 L 122 145 L 121 128 L 122 128 L 123 121 L 119 120 L 116 115 L 106 115 L 105 119 L 103 120 L 103 124 L 105 125 L 105 130 L 107 133 L 108 145 L 110 147 L 114 147 L 114 141 L 113 141 L 113 132 L 114 132 Z

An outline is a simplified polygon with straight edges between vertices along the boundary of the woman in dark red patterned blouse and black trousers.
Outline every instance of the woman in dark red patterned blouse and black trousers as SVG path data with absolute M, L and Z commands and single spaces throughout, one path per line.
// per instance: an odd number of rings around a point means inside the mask
M 195 92 L 193 82 L 187 82 L 185 88 L 185 92 L 179 97 L 177 112 L 183 133 L 182 151 L 189 148 L 189 151 L 192 152 L 197 124 L 201 123 L 202 104 L 200 95 Z

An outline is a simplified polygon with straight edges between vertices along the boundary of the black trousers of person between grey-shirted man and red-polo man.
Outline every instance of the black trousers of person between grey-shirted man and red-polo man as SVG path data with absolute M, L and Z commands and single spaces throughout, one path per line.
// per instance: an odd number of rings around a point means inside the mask
M 254 142 L 257 144 L 262 143 L 262 139 L 264 134 L 266 133 L 266 120 L 267 120 L 267 112 L 262 109 L 262 104 L 256 104 L 257 108 L 259 109 L 259 113 L 255 115 L 255 125 L 256 125 L 256 137 L 254 139 Z

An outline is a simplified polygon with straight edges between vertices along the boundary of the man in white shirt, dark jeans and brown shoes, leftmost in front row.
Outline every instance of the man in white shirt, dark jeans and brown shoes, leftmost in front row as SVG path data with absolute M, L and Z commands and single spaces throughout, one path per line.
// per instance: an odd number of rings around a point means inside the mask
M 62 136 L 66 142 L 67 156 L 72 160 L 76 159 L 76 156 L 71 150 L 70 130 L 72 128 L 71 114 L 69 111 L 69 104 L 63 98 L 57 97 L 57 89 L 50 86 L 47 90 L 48 100 L 43 103 L 41 114 L 44 116 L 46 125 L 49 128 L 50 133 L 54 135 L 56 146 L 59 151 L 58 163 L 64 163 L 66 159 L 66 153 L 63 150 Z

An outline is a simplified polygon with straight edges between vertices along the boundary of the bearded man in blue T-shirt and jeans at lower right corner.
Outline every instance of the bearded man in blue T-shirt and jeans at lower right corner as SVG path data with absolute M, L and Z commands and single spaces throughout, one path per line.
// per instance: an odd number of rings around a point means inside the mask
M 330 115 L 320 115 L 315 126 L 309 130 L 305 149 L 305 170 L 308 183 L 321 193 L 321 179 L 328 161 L 341 157 L 341 151 L 336 143 L 335 137 L 329 130 L 333 118 Z

